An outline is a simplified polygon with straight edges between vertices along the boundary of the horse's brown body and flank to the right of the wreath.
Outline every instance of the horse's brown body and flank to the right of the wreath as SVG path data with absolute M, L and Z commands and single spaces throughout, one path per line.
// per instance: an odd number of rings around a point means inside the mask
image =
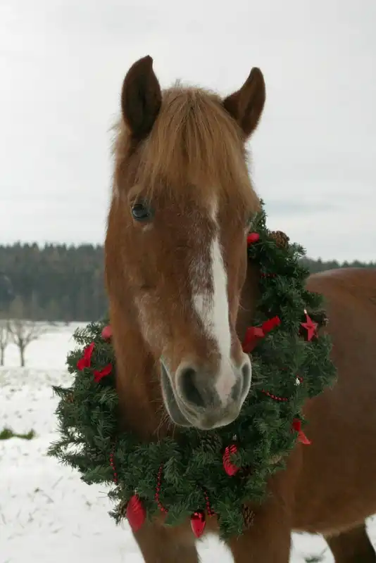
M 254 529 L 234 540 L 236 562 L 287 562 L 291 531 L 324 535 L 336 563 L 376 561 L 365 532 L 365 519 L 376 512 L 376 270 L 313 274 L 308 289 L 325 296 L 338 381 L 306 405 L 311 445 L 299 445 L 289 469 L 270 481 L 274 499 L 261 510 L 268 541 L 255 519 Z M 253 291 L 251 274 L 239 312 L 242 334 Z

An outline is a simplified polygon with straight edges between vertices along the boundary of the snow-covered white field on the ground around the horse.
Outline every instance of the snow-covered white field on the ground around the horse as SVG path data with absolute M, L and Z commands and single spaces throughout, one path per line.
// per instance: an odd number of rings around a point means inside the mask
M 18 351 L 6 350 L 0 369 L 0 432 L 30 430 L 32 440 L 0 441 L 0 563 L 142 563 L 127 526 L 115 526 L 107 512 L 111 505 L 104 488 L 87 486 L 78 474 L 46 457 L 56 438 L 51 385 L 68 383 L 65 356 L 73 346 L 77 325 L 53 328 L 30 344 L 27 367 L 18 365 Z M 376 536 L 372 533 L 372 536 Z M 373 530 L 372 530 L 373 531 Z M 294 536 L 294 563 L 332 562 L 321 538 Z M 200 544 L 203 563 L 232 562 L 215 538 Z M 314 559 L 324 552 L 322 559 Z

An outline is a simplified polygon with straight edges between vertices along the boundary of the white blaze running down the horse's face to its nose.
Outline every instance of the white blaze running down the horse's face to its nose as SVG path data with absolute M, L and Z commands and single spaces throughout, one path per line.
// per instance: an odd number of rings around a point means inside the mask
M 234 368 L 231 360 L 231 334 L 229 320 L 229 303 L 227 297 L 227 272 L 223 262 L 220 246 L 217 205 L 213 205 L 212 219 L 216 224 L 216 232 L 211 241 L 209 264 L 202 257 L 194 264 L 192 279 L 193 305 L 201 319 L 203 329 L 216 343 L 220 354 L 220 372 L 216 388 L 220 400 L 227 403 L 232 387 L 236 383 Z M 203 291 L 200 281 L 203 277 L 210 277 L 213 291 Z

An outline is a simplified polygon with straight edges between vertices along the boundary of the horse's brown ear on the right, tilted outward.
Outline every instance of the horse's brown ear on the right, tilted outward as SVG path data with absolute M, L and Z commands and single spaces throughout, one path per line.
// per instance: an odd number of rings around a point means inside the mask
M 242 88 L 223 101 L 246 138 L 256 129 L 265 104 L 265 81 L 259 68 L 252 68 Z

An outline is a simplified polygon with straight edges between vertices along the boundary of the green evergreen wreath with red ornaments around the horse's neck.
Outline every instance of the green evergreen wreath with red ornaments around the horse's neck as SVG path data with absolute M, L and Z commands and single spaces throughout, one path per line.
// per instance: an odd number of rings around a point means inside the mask
M 106 321 L 75 332 L 67 359 L 68 388 L 54 387 L 60 438 L 49 455 L 78 469 L 88 484 L 113 484 L 111 516 L 133 530 L 161 512 L 175 526 L 191 518 L 201 536 L 206 518 L 218 517 L 222 538 L 251 525 L 247 503 L 262 502 L 267 481 L 285 467 L 303 433 L 302 407 L 334 384 L 331 341 L 322 296 L 305 288 L 303 248 L 281 232 L 268 232 L 262 210 L 248 236 L 249 260 L 258 265 L 261 297 L 243 349 L 252 353 L 252 384 L 237 420 L 211 431 L 180 429 L 175 438 L 142 443 L 118 431 L 115 356 Z

